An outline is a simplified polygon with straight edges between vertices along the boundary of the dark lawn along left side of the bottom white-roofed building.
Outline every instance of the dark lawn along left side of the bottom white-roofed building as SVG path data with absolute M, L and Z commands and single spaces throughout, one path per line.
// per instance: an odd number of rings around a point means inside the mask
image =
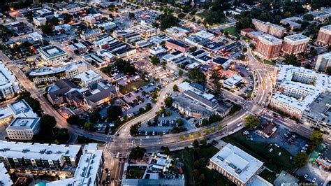
M 198 182 L 203 183 L 203 185 L 212 186 L 235 185 L 226 177 L 222 176 L 221 173 L 206 167 L 209 158 L 214 156 L 216 152 L 219 152 L 219 150 L 212 145 L 207 145 L 206 147 L 200 146 L 197 150 L 189 148 L 172 152 L 172 157 L 177 157 L 179 158 L 179 162 L 184 163 L 185 185 L 197 185 L 196 183 Z M 195 167 L 195 162 L 198 162 L 200 166 Z M 200 175 L 198 178 L 194 178 L 193 170 L 198 170 Z M 201 175 L 205 177 L 204 180 L 200 180 Z

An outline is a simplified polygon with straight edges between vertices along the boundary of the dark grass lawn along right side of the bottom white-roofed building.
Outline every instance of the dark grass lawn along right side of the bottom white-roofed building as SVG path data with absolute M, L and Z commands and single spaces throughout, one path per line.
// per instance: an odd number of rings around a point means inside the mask
M 256 157 L 274 172 L 279 173 L 281 169 L 286 169 L 291 172 L 295 170 L 295 165 L 292 160 L 290 160 L 290 156 L 292 156 L 290 155 L 290 152 L 284 148 L 277 148 L 274 145 L 272 145 L 274 150 L 269 152 L 270 143 L 247 140 L 246 136 L 242 134 L 244 130 L 245 129 L 242 129 L 233 135 L 223 138 L 223 141 L 231 143 L 253 157 Z M 281 152 L 281 156 L 278 155 L 279 152 Z

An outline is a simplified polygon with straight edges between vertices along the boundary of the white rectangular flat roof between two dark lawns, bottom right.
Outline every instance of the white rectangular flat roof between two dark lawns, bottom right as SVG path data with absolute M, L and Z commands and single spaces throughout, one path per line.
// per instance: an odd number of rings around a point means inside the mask
M 242 183 L 247 183 L 263 166 L 263 162 L 230 143 L 217 152 L 210 161 L 241 180 Z

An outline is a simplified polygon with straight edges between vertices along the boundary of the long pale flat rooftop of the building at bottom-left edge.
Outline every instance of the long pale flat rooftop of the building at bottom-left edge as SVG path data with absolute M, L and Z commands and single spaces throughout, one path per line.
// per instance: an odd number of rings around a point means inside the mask
M 0 157 L 15 157 L 24 159 L 52 159 L 63 156 L 76 158 L 80 145 L 55 145 L 42 143 L 22 143 L 0 141 Z

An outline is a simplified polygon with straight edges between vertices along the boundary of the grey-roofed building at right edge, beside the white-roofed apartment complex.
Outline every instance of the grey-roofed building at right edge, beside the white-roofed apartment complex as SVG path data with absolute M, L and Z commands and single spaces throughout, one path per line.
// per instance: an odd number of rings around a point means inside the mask
M 304 109 L 300 122 L 330 133 L 331 130 L 331 92 L 320 94 Z

